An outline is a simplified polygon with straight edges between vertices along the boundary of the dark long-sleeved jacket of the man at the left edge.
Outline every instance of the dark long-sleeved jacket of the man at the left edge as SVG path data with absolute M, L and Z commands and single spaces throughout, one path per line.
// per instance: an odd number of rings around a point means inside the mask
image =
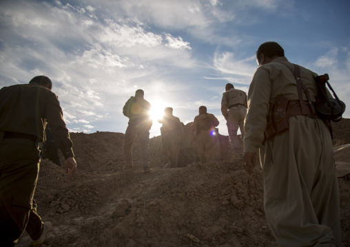
M 50 89 L 33 84 L 12 85 L 0 89 L 0 98 L 0 131 L 25 133 L 42 142 L 49 122 L 65 158 L 74 157 L 59 100 Z

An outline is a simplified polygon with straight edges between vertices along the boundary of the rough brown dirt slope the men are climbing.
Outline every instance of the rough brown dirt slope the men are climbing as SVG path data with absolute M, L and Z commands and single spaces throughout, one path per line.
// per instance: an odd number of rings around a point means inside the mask
M 349 143 L 349 126 L 348 119 L 333 124 L 337 144 Z M 264 215 L 260 165 L 249 177 L 240 162 L 230 164 L 227 136 L 219 136 L 222 162 L 177 169 L 162 168 L 160 137 L 152 138 L 150 173 L 142 171 L 138 141 L 134 170 L 122 170 L 123 137 L 71 133 L 74 180 L 42 160 L 34 198 L 53 224 L 43 246 L 277 246 Z M 350 183 L 339 184 L 342 241 L 350 246 Z

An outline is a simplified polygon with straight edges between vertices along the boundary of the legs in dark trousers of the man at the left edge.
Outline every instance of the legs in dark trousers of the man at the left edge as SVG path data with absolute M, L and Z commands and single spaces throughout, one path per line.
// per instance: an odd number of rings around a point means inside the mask
M 12 246 L 29 220 L 30 236 L 40 236 L 40 217 L 30 219 L 39 173 L 39 149 L 34 142 L 23 139 L 3 140 L 0 144 L 0 173 L 1 241 Z

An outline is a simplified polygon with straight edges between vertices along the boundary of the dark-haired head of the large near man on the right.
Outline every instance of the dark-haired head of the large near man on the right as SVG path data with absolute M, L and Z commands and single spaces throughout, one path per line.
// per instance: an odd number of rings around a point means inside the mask
M 263 43 L 256 51 L 256 61 L 259 66 L 270 63 L 278 56 L 285 56 L 285 50 L 274 41 Z

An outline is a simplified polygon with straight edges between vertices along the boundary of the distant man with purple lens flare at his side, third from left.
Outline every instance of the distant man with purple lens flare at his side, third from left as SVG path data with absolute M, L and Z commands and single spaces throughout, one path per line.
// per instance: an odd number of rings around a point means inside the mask
M 207 113 L 207 107 L 199 107 L 199 115 L 191 125 L 191 138 L 196 140 L 200 162 L 220 161 L 220 142 L 216 126 L 219 121 L 213 114 Z

